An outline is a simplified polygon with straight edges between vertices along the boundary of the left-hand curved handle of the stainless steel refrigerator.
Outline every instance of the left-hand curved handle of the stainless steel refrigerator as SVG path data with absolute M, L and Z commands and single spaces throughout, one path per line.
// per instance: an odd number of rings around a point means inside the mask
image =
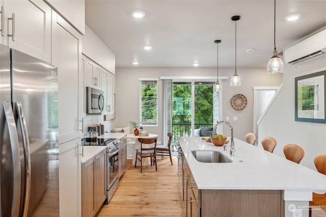
M 13 198 L 11 216 L 19 216 L 20 204 L 20 187 L 21 187 L 21 171 L 20 171 L 20 153 L 18 133 L 15 123 L 14 114 L 10 102 L 3 102 L 5 120 L 8 124 L 9 139 L 11 143 L 12 165 L 13 165 Z M 4 120 L 4 119 L 3 119 Z M 4 123 L 1 123 L 4 125 Z

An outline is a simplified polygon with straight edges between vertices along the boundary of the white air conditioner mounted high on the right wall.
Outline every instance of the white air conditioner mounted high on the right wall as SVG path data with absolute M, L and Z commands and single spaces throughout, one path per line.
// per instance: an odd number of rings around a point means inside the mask
M 326 56 L 326 30 L 287 48 L 285 61 L 289 64 L 299 63 L 308 59 Z

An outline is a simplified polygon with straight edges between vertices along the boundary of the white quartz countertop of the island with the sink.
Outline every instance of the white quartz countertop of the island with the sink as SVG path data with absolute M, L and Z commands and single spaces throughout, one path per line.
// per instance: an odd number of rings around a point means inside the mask
M 234 156 L 230 156 L 230 143 L 223 151 L 200 137 L 179 137 L 178 141 L 199 189 L 326 190 L 325 175 L 235 138 Z M 198 162 L 192 150 L 217 150 L 233 162 Z

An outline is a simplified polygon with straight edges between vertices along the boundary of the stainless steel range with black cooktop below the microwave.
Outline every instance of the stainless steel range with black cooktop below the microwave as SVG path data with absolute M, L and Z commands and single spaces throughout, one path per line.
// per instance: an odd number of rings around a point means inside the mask
M 106 146 L 106 204 L 110 202 L 119 185 L 119 143 L 118 139 L 97 139 L 95 141 L 82 139 L 82 144 L 85 146 Z

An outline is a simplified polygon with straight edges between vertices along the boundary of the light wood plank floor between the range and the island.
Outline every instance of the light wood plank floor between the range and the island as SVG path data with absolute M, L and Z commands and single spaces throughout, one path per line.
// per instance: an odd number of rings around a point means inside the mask
M 134 168 L 131 159 L 119 182 L 119 188 L 96 216 L 185 216 L 177 177 L 177 157 L 157 159 L 155 166 Z

